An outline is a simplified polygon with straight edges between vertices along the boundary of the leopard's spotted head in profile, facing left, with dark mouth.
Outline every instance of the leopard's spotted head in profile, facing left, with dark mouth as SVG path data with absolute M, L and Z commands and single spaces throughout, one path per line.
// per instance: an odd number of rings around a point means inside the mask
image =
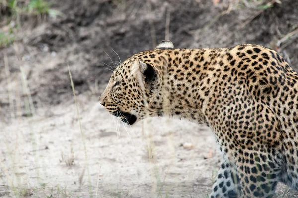
M 167 67 L 166 49 L 170 41 L 162 41 L 155 50 L 137 53 L 114 70 L 99 102 L 114 116 L 130 125 L 146 116 L 161 116 L 163 77 Z

